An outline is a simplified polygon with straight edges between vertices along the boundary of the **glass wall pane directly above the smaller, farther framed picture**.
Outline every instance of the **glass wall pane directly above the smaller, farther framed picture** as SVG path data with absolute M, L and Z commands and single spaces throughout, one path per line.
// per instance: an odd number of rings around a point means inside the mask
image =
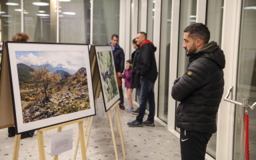
M 93 1 L 93 44 L 107 45 L 119 33 L 119 0 Z

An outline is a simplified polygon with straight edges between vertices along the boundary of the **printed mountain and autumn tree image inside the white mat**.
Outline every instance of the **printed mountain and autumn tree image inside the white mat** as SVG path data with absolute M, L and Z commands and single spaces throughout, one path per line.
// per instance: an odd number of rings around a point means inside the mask
M 16 51 L 15 55 L 23 123 L 90 108 L 85 61 L 77 61 L 84 59 L 83 53 Z M 70 58 L 57 61 L 56 55 Z

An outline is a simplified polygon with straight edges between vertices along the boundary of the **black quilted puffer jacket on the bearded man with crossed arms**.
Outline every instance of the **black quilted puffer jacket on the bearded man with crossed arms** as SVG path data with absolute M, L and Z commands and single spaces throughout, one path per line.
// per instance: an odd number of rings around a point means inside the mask
M 171 96 L 181 101 L 176 125 L 188 131 L 215 133 L 216 113 L 223 95 L 225 55 L 212 41 L 189 57 L 185 74 L 176 79 Z

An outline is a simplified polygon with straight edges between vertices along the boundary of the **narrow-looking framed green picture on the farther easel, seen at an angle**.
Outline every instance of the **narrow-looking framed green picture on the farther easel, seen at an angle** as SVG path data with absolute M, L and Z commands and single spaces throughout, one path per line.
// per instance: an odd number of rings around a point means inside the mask
M 110 45 L 95 46 L 95 54 L 101 77 L 105 111 L 107 112 L 120 99 L 112 47 Z

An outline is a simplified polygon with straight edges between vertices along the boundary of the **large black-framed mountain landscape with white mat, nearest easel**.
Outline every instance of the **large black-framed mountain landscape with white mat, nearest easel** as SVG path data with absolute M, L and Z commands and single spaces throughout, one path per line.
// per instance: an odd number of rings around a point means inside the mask
M 7 42 L 17 133 L 95 115 L 89 47 Z

